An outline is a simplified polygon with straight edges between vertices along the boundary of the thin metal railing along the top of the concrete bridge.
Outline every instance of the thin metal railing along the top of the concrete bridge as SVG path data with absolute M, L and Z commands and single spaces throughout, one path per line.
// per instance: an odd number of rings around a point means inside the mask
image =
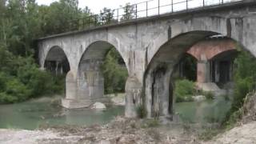
M 150 0 L 114 10 L 108 10 L 100 14 L 90 14 L 90 16 L 68 22 L 67 26 L 55 26 L 54 29 L 58 31 L 57 34 L 60 34 L 74 30 L 86 30 L 97 26 L 118 24 L 139 18 L 158 17 L 162 14 L 192 10 L 206 6 L 218 6 L 238 1 L 242 0 Z

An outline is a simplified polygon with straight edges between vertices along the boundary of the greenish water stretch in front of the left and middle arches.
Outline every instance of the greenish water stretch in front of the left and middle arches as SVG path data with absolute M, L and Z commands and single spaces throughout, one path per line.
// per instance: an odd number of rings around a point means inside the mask
M 34 130 L 41 125 L 89 126 L 110 122 L 117 115 L 124 114 L 123 106 L 106 110 L 66 110 L 51 104 L 50 100 L 0 105 L 0 128 Z

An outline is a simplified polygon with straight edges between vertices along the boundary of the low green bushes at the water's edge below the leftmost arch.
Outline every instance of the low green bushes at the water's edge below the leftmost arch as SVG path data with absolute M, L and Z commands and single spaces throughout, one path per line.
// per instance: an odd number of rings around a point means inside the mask
M 39 70 L 33 58 L 14 57 L 2 47 L 0 58 L 6 58 L 6 65 L 0 63 L 0 103 L 22 102 L 64 90 L 63 78 Z

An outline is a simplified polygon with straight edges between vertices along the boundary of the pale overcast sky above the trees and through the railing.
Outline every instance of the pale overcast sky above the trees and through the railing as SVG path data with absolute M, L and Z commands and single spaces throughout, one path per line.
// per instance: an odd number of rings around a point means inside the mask
M 36 0 L 39 5 L 50 5 L 51 2 L 55 2 L 58 0 Z M 98 14 L 100 10 L 102 10 L 104 7 L 110 8 L 110 9 L 116 9 L 119 6 L 125 6 L 126 3 L 130 2 L 131 4 L 134 3 L 139 3 L 139 2 L 146 2 L 150 0 L 79 0 L 79 7 L 80 8 L 85 8 L 88 6 L 90 10 L 94 14 Z M 214 3 L 214 2 L 221 2 L 222 0 L 205 0 L 207 4 Z M 224 2 L 229 2 L 229 1 L 236 1 L 236 0 L 224 0 Z M 161 6 L 164 6 L 161 8 L 160 13 L 165 13 L 167 10 L 170 10 L 170 6 L 165 6 L 165 5 L 170 5 L 171 0 L 160 0 Z M 173 2 L 184 2 L 184 0 L 173 0 Z M 155 8 L 158 6 L 158 0 L 151 0 L 151 2 L 148 3 L 148 8 Z M 196 7 L 196 6 L 202 6 L 202 0 L 192 0 L 189 1 L 189 7 Z M 180 3 L 176 4 L 174 6 L 174 10 L 180 10 L 186 8 L 185 3 Z M 138 10 L 145 10 L 146 9 L 146 4 L 140 4 L 138 5 Z M 149 13 L 156 13 L 158 10 L 151 10 Z

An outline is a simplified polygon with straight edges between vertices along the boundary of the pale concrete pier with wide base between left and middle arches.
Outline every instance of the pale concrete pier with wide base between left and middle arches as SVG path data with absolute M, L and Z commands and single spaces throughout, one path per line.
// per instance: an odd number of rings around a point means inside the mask
M 78 77 L 66 77 L 66 98 L 62 106 L 75 109 L 91 106 L 94 102 L 107 102 L 104 98 L 104 77 L 100 70 L 102 59 L 87 59 L 80 63 Z

